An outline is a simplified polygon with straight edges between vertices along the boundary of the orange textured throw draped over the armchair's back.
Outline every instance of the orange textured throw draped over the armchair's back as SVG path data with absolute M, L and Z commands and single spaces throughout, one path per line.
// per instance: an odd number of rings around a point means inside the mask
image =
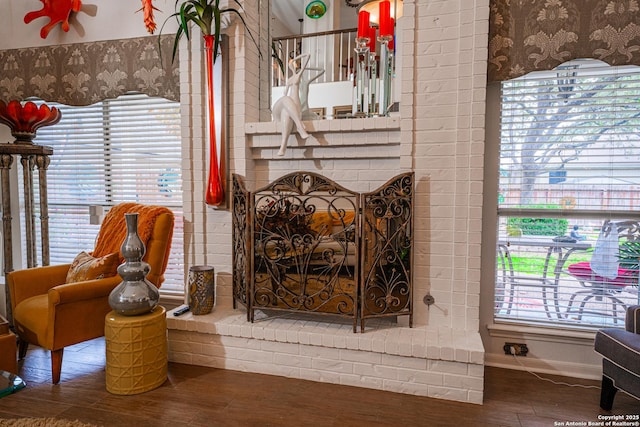
M 140 240 L 147 246 L 156 218 L 162 213 L 173 215 L 171 210 L 164 206 L 140 205 L 138 203 L 121 203 L 112 207 L 102 221 L 98 241 L 92 252 L 94 257 L 102 257 L 105 255 L 118 252 L 120 261 L 124 261 L 120 253 L 120 247 L 127 236 L 127 223 L 124 219 L 126 213 L 138 213 L 138 235 Z M 171 242 L 169 242 L 171 243 Z M 169 256 L 169 254 L 167 254 Z

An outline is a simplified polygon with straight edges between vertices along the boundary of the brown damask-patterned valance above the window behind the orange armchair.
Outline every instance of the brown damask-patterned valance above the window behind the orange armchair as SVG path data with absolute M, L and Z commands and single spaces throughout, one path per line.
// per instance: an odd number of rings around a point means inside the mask
M 0 99 L 78 106 L 137 91 L 179 101 L 173 38 L 160 38 L 162 55 L 156 36 L 0 51 Z

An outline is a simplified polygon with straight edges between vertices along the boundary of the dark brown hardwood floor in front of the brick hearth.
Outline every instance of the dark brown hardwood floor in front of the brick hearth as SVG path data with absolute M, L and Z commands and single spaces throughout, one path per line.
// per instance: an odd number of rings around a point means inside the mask
M 0 418 L 57 417 L 122 427 L 554 426 L 586 425 L 599 414 L 640 414 L 640 401 L 624 393 L 609 413 L 599 408 L 599 389 L 497 368 L 486 368 L 484 405 L 473 405 L 175 363 L 160 388 L 117 396 L 105 389 L 104 364 L 103 339 L 69 347 L 62 381 L 54 386 L 48 352 L 31 346 L 20 364 L 27 387 L 0 399 Z

